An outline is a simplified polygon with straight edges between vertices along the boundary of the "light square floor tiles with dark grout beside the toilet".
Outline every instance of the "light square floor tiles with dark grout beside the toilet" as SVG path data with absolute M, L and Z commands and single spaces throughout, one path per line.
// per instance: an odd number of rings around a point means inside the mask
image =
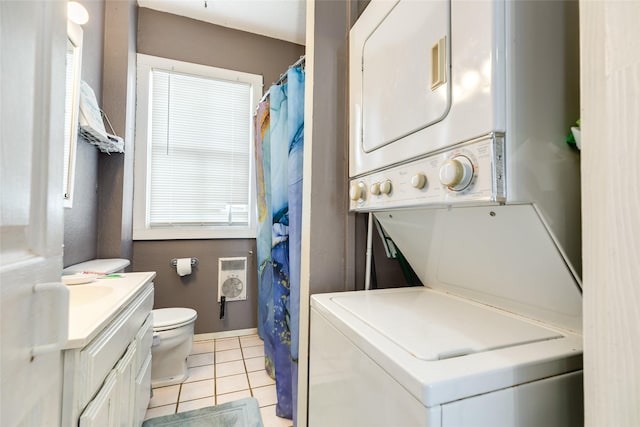
M 276 416 L 276 385 L 264 370 L 264 347 L 258 335 L 196 340 L 187 365 L 189 377 L 184 383 L 153 389 L 145 419 L 253 396 L 264 427 L 293 424 Z

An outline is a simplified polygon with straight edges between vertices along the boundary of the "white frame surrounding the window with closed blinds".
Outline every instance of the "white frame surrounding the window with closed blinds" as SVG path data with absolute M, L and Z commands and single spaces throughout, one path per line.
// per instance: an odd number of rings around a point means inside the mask
M 256 186 L 253 121 L 249 132 L 249 224 L 247 226 L 149 226 L 149 189 L 151 158 L 150 99 L 151 71 L 161 69 L 206 78 L 238 81 L 251 85 L 252 110 L 262 96 L 261 75 L 227 70 L 208 65 L 177 61 L 157 56 L 137 54 L 137 102 L 135 132 L 135 169 L 133 195 L 133 240 L 178 239 L 242 239 L 256 237 Z

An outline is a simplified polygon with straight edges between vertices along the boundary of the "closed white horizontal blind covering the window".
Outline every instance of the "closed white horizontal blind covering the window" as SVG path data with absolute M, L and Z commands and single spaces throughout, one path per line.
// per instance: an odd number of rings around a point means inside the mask
M 251 85 L 152 70 L 150 227 L 247 226 Z

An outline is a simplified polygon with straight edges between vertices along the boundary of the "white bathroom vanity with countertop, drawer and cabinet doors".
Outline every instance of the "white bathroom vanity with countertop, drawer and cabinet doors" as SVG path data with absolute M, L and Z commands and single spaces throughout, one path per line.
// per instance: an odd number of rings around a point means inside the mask
M 153 278 L 122 273 L 69 286 L 63 426 L 140 426 L 151 392 Z

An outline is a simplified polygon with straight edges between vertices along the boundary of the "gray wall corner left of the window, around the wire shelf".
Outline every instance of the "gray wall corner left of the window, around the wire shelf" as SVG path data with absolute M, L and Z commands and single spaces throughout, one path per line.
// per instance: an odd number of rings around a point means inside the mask
M 125 154 L 104 154 L 78 139 L 73 207 L 65 209 L 64 266 L 94 258 L 132 257 L 134 0 L 85 0 L 82 79 L 93 88 Z M 110 129 L 107 129 L 111 133 Z

